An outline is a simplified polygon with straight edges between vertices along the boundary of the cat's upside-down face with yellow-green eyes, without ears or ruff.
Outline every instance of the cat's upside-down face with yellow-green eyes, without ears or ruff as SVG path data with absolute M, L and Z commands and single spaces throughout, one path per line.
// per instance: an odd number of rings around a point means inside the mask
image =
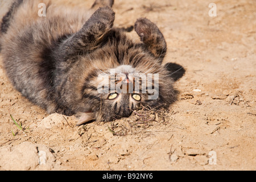
M 119 65 L 98 75 L 97 91 L 101 95 L 102 119 L 111 121 L 129 117 L 138 105 L 152 106 L 150 102 L 158 100 L 158 78 L 142 71 L 131 65 Z

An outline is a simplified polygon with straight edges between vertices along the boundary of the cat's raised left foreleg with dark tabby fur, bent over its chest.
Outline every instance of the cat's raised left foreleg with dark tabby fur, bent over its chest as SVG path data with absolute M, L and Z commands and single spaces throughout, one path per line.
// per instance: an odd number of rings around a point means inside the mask
M 80 53 L 90 52 L 98 48 L 113 27 L 114 11 L 109 7 L 100 7 L 82 26 L 81 30 L 62 42 L 57 55 L 68 60 Z

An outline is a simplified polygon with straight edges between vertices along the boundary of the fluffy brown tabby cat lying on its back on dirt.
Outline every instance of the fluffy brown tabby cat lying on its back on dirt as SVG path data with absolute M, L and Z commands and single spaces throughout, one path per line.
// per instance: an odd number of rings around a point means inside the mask
M 88 10 L 53 2 L 16 0 L 2 19 L 3 67 L 24 97 L 48 113 L 79 116 L 78 125 L 176 101 L 174 80 L 162 65 L 166 40 L 156 24 L 137 19 L 141 42 L 134 42 L 124 28 L 113 26 L 113 0 L 96 0 Z M 45 17 L 38 15 L 39 3 L 46 5 Z

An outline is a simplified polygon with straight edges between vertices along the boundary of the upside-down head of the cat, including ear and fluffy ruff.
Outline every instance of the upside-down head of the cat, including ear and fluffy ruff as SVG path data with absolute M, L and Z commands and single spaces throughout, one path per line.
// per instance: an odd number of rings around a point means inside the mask
M 79 123 L 90 119 L 112 121 L 129 117 L 139 105 L 151 109 L 168 107 L 175 100 L 170 73 L 160 64 L 159 57 L 131 41 L 126 41 L 125 46 L 115 42 L 119 44 L 118 50 L 112 43 L 86 58 L 90 59 L 93 71 L 89 78 L 85 78 L 82 92 L 84 97 L 90 98 L 85 103 L 88 105 L 89 102 L 91 107 L 82 114 Z M 130 47 L 129 51 L 126 46 Z M 115 55 L 116 51 L 123 55 Z

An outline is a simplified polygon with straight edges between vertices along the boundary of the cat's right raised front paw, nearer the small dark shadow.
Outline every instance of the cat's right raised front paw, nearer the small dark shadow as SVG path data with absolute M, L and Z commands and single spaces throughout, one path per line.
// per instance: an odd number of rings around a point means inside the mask
M 135 31 L 146 45 L 147 49 L 157 58 L 160 63 L 166 55 L 167 46 L 163 34 L 159 28 L 146 18 L 139 18 L 135 22 Z

